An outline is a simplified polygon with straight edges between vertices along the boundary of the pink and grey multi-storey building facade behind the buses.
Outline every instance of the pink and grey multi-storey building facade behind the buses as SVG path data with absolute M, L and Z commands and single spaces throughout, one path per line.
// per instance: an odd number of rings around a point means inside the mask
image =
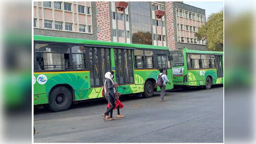
M 38 1 L 34 34 L 206 50 L 205 10 L 183 2 Z

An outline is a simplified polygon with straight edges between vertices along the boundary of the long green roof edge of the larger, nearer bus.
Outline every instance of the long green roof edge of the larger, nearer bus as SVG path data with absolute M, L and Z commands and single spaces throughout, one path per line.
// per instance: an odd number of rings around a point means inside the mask
M 169 48 L 167 46 L 127 44 L 127 43 L 87 40 L 87 39 L 78 39 L 78 38 L 66 38 L 66 37 L 55 37 L 55 36 L 34 35 L 34 41 L 76 43 L 76 44 L 87 44 L 87 45 L 110 45 L 110 46 L 123 46 L 123 47 L 169 50 Z

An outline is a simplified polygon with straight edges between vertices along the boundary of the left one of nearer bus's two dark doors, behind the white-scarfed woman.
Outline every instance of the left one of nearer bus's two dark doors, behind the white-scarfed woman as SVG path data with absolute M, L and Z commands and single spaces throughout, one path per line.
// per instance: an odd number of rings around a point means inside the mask
M 111 72 L 110 49 L 89 47 L 90 82 L 92 87 L 102 87 L 105 73 Z

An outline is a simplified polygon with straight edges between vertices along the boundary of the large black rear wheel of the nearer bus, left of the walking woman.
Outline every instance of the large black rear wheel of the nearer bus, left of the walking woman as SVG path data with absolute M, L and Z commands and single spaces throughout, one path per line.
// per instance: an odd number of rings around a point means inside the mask
M 50 93 L 49 105 L 55 112 L 67 110 L 71 103 L 72 94 L 66 87 L 57 87 Z

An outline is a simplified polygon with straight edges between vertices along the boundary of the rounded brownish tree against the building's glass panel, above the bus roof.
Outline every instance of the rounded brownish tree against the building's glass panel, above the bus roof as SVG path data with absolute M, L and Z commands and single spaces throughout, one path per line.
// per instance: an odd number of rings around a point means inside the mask
M 133 44 L 152 45 L 152 34 L 150 32 L 139 31 L 133 34 Z

